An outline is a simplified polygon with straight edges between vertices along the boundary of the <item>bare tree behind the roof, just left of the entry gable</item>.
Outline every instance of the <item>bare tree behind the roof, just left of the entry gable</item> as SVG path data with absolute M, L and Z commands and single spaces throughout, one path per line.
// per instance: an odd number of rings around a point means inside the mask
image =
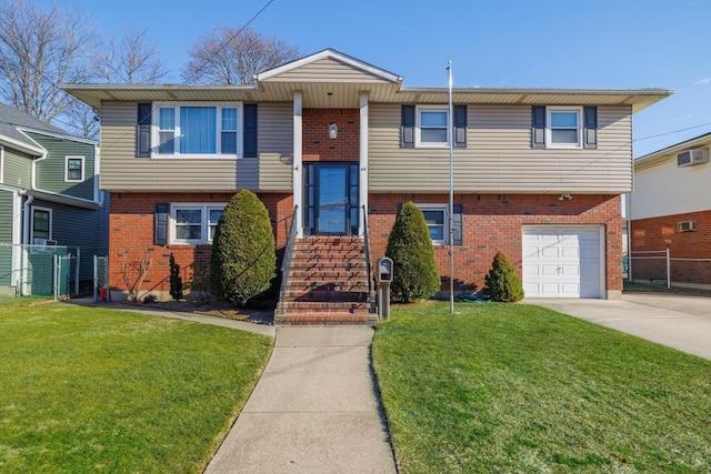
M 201 37 L 182 71 L 186 83 L 249 84 L 258 72 L 299 58 L 299 50 L 249 27 L 218 28 Z

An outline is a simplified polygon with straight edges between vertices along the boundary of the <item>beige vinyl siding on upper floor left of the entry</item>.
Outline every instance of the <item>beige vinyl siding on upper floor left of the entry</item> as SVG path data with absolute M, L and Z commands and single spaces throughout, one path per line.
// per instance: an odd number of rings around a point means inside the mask
M 281 124 L 284 117 L 288 121 Z M 101 188 L 104 190 L 218 192 L 238 188 L 254 191 L 291 188 L 290 108 L 259 105 L 259 163 L 253 159 L 136 158 L 136 102 L 104 102 L 101 107 Z M 281 128 L 270 132 L 270 122 Z

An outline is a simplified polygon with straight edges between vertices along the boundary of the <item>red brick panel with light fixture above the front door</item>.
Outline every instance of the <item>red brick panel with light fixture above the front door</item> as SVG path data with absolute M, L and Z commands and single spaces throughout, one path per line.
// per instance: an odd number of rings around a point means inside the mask
M 360 111 L 358 109 L 303 109 L 303 154 L 309 161 L 360 160 Z M 338 125 L 338 138 L 329 138 L 329 124 Z

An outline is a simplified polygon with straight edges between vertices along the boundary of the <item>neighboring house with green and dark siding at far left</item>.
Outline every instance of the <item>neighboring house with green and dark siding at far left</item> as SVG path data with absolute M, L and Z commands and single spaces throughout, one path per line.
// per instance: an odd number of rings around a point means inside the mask
M 80 280 L 91 280 L 91 254 L 108 250 L 96 141 L 0 104 L 0 286 L 18 278 L 19 253 L 8 256 L 8 244 L 80 248 Z

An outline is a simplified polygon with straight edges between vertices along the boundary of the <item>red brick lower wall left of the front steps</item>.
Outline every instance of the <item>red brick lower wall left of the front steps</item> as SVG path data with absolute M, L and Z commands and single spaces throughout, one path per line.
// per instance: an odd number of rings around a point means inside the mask
M 156 204 L 159 202 L 227 203 L 233 193 L 111 193 L 111 214 L 109 218 L 109 285 L 112 297 L 121 299 L 127 291 L 124 273 L 134 281 L 139 273 L 131 268 L 137 261 L 151 261 L 150 271 L 141 285 L 141 297 L 153 293 L 169 297 L 170 265 L 173 253 L 176 263 L 181 266 L 183 283 L 190 279 L 190 264 L 198 262 L 210 264 L 212 245 L 153 244 L 153 220 Z M 283 249 L 289 236 L 289 225 L 293 213 L 293 200 L 290 193 L 261 193 L 260 200 L 267 206 L 274 228 L 277 249 Z M 128 270 L 122 270 L 123 262 Z M 124 297 L 124 296 L 123 296 Z

